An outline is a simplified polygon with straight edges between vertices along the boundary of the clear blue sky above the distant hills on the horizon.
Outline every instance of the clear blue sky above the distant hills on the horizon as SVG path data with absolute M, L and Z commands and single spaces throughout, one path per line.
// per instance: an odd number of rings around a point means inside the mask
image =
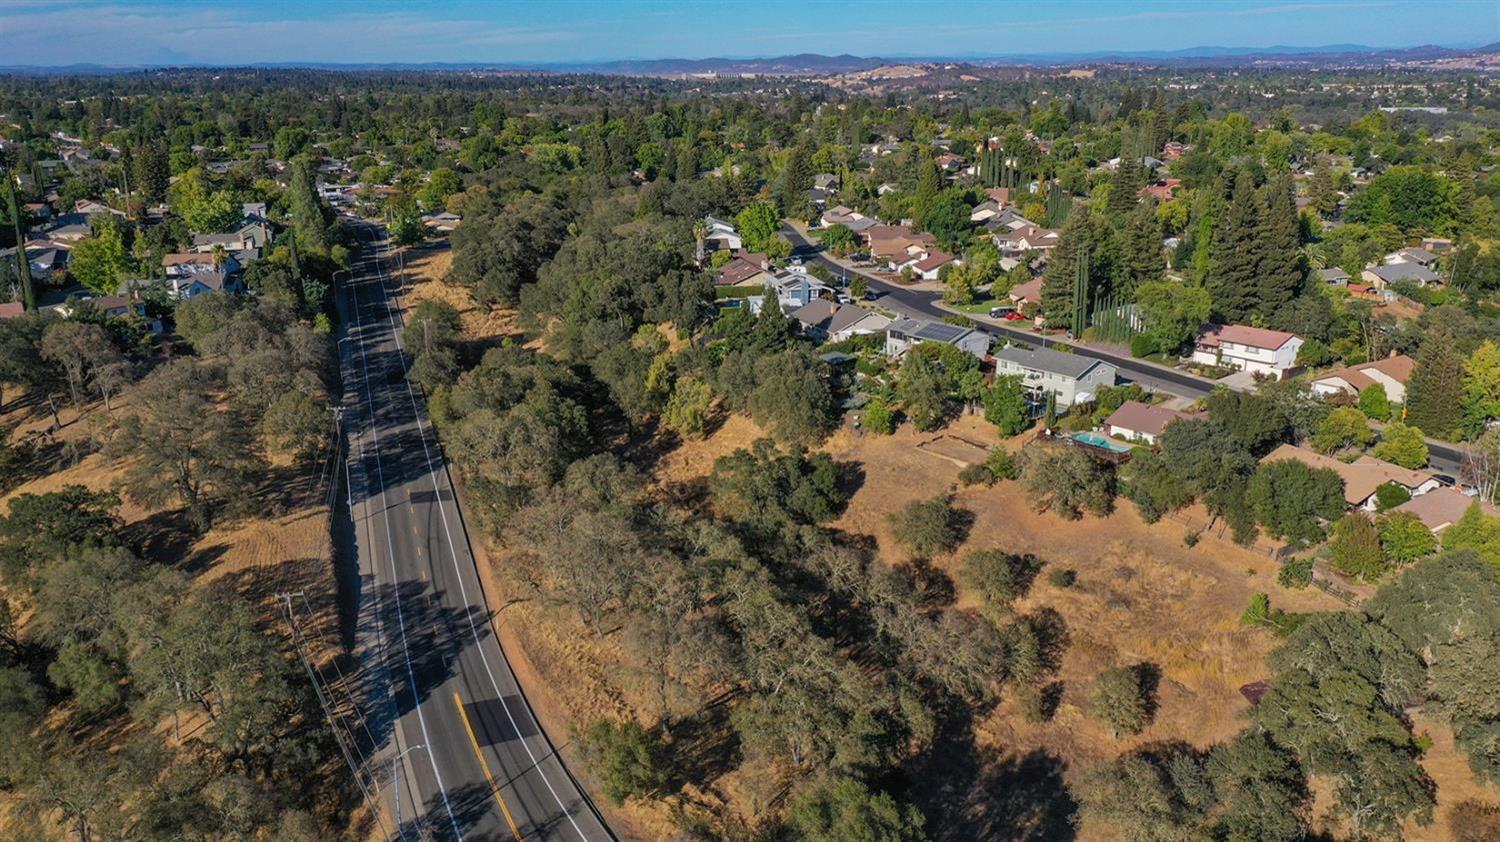
M 0 65 L 1005 56 L 1500 41 L 1500 0 L 0 0 Z

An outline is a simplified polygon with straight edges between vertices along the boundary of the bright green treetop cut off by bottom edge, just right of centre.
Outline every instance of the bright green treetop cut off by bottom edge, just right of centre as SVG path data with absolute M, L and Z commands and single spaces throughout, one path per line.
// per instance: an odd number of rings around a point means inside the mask
M 806 842 L 921 842 L 922 813 L 855 777 L 838 777 L 796 797 L 786 824 Z

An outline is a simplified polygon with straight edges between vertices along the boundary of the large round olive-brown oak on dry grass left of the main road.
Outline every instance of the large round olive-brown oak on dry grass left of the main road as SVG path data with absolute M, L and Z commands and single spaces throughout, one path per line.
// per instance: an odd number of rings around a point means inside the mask
M 126 494 L 142 506 L 177 500 L 188 518 L 208 528 L 212 503 L 246 489 L 260 465 L 249 428 L 208 398 L 212 383 L 194 360 L 159 368 L 141 381 L 112 453 L 134 456 L 126 468 Z

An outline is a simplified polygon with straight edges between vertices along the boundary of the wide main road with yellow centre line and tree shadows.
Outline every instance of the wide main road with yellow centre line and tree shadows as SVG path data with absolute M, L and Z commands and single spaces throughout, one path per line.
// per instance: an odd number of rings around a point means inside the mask
M 366 777 L 392 839 L 614 839 L 495 636 L 452 477 L 405 380 L 386 233 L 336 290 Z

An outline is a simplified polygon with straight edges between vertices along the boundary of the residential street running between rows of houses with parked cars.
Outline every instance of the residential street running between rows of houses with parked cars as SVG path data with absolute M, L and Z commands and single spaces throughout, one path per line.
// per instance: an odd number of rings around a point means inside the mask
M 910 287 L 903 287 L 900 284 L 892 284 L 870 275 L 867 272 L 858 272 L 834 263 L 822 254 L 822 246 L 814 243 L 800 234 L 796 228 L 790 225 L 782 227 L 782 236 L 784 236 L 792 243 L 792 254 L 801 257 L 804 263 L 819 263 L 825 266 L 830 272 L 837 276 L 858 275 L 868 281 L 870 290 L 879 293 L 879 303 L 885 309 L 892 312 L 909 315 L 915 318 L 926 318 L 930 321 L 942 321 L 950 315 L 956 315 L 952 311 L 945 311 L 936 305 L 938 299 L 932 293 L 922 293 L 920 290 L 912 290 Z M 1053 345 L 1066 345 L 1072 353 L 1083 357 L 1094 357 L 1096 360 L 1104 360 L 1114 365 L 1119 371 L 1122 380 L 1132 383 L 1140 383 L 1156 392 L 1168 392 L 1172 395 L 1180 395 L 1184 398 L 1202 398 L 1214 390 L 1214 381 L 1204 377 L 1197 377 L 1185 371 L 1173 371 L 1162 366 L 1142 365 L 1140 360 L 1128 354 L 1114 354 L 1095 347 L 1078 345 L 1074 342 L 1065 342 L 1060 339 L 1052 339 L 1047 336 L 1038 336 L 1028 330 L 1018 330 L 1014 327 L 1002 327 L 998 324 L 988 324 L 978 320 L 969 320 L 976 329 L 996 336 L 999 339 L 1012 339 L 1016 342 L 1023 342 L 1026 345 L 1040 345 L 1042 348 L 1050 348 Z M 1428 438 L 1426 441 L 1430 453 L 1430 467 L 1434 471 L 1449 474 L 1452 477 L 1460 476 L 1460 465 L 1462 462 L 1462 452 L 1442 441 Z

